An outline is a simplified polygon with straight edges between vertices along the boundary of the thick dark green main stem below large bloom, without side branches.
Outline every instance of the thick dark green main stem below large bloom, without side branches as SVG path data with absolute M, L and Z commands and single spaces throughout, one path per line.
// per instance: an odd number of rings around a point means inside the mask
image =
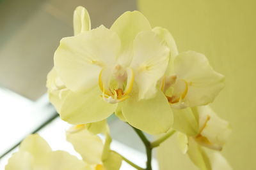
M 145 134 L 143 134 L 143 132 L 141 132 L 139 129 L 136 129 L 135 127 L 132 127 L 132 129 L 134 129 L 136 134 L 138 134 L 138 136 L 140 137 L 141 141 L 144 143 L 145 148 L 146 148 L 146 152 L 147 152 L 147 167 L 146 167 L 145 170 L 152 170 L 152 166 L 151 166 L 152 147 L 151 147 L 150 141 L 148 141 L 148 139 L 146 138 Z

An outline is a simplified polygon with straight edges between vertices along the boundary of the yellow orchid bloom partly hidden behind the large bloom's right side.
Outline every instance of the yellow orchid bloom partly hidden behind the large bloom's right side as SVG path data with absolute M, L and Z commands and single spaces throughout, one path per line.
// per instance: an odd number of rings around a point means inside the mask
M 212 69 L 202 53 L 179 53 L 168 30 L 154 29 L 170 48 L 170 60 L 161 90 L 172 108 L 203 106 L 212 103 L 223 89 L 224 76 Z

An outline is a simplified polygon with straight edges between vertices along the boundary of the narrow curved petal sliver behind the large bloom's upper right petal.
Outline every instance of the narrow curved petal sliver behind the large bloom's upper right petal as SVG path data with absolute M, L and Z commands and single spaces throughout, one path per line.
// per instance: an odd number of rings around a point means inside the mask
M 166 69 L 166 74 L 170 75 L 171 73 L 173 73 L 173 60 L 179 53 L 177 45 L 173 39 L 172 34 L 170 34 L 170 32 L 167 29 L 164 29 L 162 27 L 154 27 L 152 31 L 156 32 L 156 34 L 160 36 L 161 39 L 164 39 L 166 45 L 168 45 L 168 47 L 170 48 L 170 60 L 168 67 Z

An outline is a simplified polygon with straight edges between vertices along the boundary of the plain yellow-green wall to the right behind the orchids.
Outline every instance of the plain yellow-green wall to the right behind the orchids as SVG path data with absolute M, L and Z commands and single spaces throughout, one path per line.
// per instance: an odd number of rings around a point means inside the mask
M 180 52 L 204 53 L 226 76 L 212 104 L 232 125 L 223 155 L 235 170 L 256 169 L 256 1 L 139 0 L 138 5 L 152 26 L 169 29 Z M 159 148 L 161 169 L 193 169 L 172 141 Z

